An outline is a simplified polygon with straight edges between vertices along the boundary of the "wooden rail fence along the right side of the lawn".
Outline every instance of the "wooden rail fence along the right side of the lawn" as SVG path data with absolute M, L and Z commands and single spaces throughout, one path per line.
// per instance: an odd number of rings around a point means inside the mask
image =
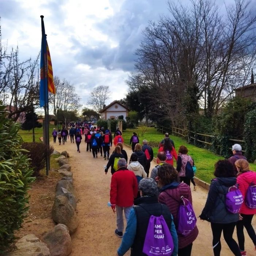
M 205 144 L 205 147 L 206 147 L 206 145 L 210 145 L 210 146 L 212 145 L 211 138 L 214 137 L 213 135 L 196 133 L 194 131 L 189 131 L 187 129 L 182 129 L 182 128 L 178 128 L 178 127 L 172 127 L 172 129 L 170 129 L 170 128 L 164 127 L 164 126 L 157 126 L 157 130 L 160 131 L 161 133 L 172 133 L 172 134 L 176 134 L 177 136 L 180 136 L 180 137 L 187 137 L 188 140 L 193 139 L 194 141 L 198 141 L 198 142 Z M 189 135 L 190 133 L 193 133 L 194 137 Z M 200 138 L 200 140 L 198 137 Z M 239 142 L 240 144 L 244 143 L 243 140 L 236 140 L 236 139 L 229 139 L 229 141 L 231 141 L 232 143 L 234 143 L 234 142 Z M 230 149 L 232 149 L 232 148 L 230 148 Z M 245 151 L 242 150 L 242 152 L 245 152 Z

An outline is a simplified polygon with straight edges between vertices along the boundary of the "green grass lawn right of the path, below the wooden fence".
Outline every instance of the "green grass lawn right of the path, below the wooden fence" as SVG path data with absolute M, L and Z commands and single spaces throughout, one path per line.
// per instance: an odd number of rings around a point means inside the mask
M 146 133 L 141 137 L 141 129 L 127 129 L 123 131 L 123 139 L 126 144 L 130 144 L 130 138 L 131 135 L 133 135 L 133 132 L 139 133 L 139 139 L 140 143 L 142 144 L 143 140 L 153 141 L 153 142 L 160 142 L 164 138 L 164 134 L 159 133 L 154 127 L 148 128 Z M 188 148 L 188 154 L 194 159 L 195 165 L 197 168 L 196 171 L 196 177 L 199 179 L 210 183 L 211 179 L 214 178 L 213 172 L 214 172 L 214 164 L 219 159 L 224 159 L 221 156 L 218 156 L 212 152 L 210 152 L 207 149 L 198 148 L 194 145 L 188 144 L 185 140 L 183 140 L 181 137 L 177 137 L 175 135 L 171 135 L 172 140 L 175 144 L 175 149 L 178 151 L 179 146 L 184 145 Z M 156 144 L 155 144 L 156 145 Z M 156 157 L 156 154 L 158 152 L 158 146 L 152 147 L 154 156 Z M 230 153 L 231 150 L 230 150 Z M 174 161 L 175 162 L 175 161 Z M 176 166 L 176 163 L 174 163 L 174 166 Z M 251 170 L 256 171 L 256 164 L 250 164 Z

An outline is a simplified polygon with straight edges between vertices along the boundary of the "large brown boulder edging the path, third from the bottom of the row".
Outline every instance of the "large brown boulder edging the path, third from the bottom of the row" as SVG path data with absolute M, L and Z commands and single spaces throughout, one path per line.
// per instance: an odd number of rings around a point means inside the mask
M 51 210 L 51 216 L 56 223 L 64 224 L 68 227 L 70 234 L 74 233 L 79 221 L 72 205 L 66 196 L 56 196 Z

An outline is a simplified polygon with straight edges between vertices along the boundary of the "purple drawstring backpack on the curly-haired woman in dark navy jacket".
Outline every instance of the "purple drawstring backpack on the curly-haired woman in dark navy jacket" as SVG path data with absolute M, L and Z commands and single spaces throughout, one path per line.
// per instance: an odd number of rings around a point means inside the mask
M 243 202 L 244 199 L 241 191 L 236 186 L 230 187 L 228 193 L 226 194 L 226 209 L 230 213 L 239 213 Z

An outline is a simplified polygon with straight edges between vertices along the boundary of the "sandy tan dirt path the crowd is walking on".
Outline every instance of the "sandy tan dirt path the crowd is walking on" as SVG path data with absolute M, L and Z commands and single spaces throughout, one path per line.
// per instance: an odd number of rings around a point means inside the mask
M 98 158 L 93 158 L 91 152 L 86 152 L 84 136 L 80 144 L 81 153 L 76 151 L 76 144 L 70 143 L 70 141 L 67 141 L 65 145 L 58 145 L 58 143 L 52 143 L 52 145 L 59 152 L 63 150 L 69 152 L 69 164 L 73 172 L 74 186 L 79 196 L 77 216 L 80 223 L 76 233 L 72 235 L 73 252 L 71 256 L 116 256 L 116 249 L 120 245 L 121 238 L 114 234 L 116 215 L 110 207 L 107 207 L 107 202 L 110 199 L 111 181 L 110 169 L 107 175 L 104 172 L 103 166 L 107 165 L 107 161 L 104 161 L 104 158 L 100 157 L 100 155 L 98 155 Z M 112 153 L 113 149 L 114 146 L 111 148 L 110 153 Z M 128 154 L 129 160 L 132 151 L 126 146 L 124 149 Z M 155 165 L 156 162 L 153 160 L 150 170 Z M 206 202 L 207 190 L 198 187 L 197 191 L 192 191 L 192 198 L 194 211 L 196 216 L 199 216 Z M 255 218 L 253 219 L 253 225 L 256 227 Z M 212 256 L 211 227 L 207 221 L 201 221 L 200 219 L 197 221 L 197 226 L 199 235 L 193 243 L 192 256 Z M 236 231 L 233 237 L 236 239 Z M 221 243 L 221 255 L 233 255 L 223 238 Z M 255 255 L 252 241 L 246 232 L 245 249 L 247 255 Z M 125 255 L 130 255 L 130 251 Z

